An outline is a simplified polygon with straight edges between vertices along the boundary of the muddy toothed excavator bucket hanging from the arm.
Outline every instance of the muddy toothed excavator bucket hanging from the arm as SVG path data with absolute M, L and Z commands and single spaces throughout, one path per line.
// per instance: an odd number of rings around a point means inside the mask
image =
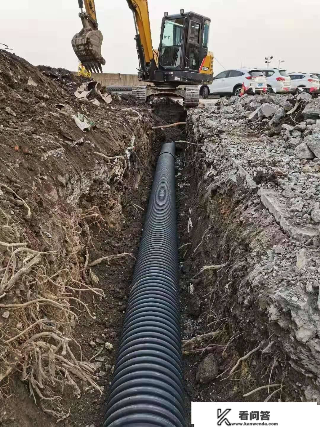
M 102 40 L 102 32 L 98 29 L 82 28 L 71 41 L 79 61 L 92 73 L 102 73 L 102 65 L 105 65 L 101 55 Z

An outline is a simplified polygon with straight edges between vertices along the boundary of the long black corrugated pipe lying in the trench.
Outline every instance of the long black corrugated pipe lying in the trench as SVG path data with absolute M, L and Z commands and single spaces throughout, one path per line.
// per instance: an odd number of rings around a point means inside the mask
M 183 427 L 175 143 L 163 144 L 103 427 Z

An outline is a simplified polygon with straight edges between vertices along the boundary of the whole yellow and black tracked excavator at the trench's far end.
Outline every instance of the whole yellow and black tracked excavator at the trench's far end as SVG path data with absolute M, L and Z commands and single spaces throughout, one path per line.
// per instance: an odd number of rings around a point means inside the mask
M 126 0 L 134 17 L 139 58 L 138 79 L 152 85 L 135 86 L 132 94 L 140 102 L 151 97 L 178 96 L 186 107 L 197 106 L 198 85 L 213 80 L 213 54 L 208 50 L 210 19 L 180 9 L 164 13 L 158 50 L 152 47 L 147 0 Z M 105 59 L 101 46 L 94 0 L 78 0 L 83 28 L 72 39 L 73 50 L 90 72 L 102 72 Z M 85 10 L 84 10 L 85 9 Z

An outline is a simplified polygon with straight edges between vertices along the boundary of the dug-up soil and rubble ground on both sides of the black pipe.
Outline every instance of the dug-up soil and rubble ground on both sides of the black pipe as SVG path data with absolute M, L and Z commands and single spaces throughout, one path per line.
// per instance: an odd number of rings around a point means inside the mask
M 192 401 L 319 400 L 318 99 L 223 98 L 152 131 L 182 106 L 88 83 L 0 53 L 0 424 L 101 425 L 168 140 L 186 425 Z

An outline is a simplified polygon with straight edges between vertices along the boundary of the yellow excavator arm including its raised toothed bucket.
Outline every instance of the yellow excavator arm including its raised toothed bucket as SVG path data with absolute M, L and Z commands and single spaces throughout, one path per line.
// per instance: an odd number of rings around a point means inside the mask
M 99 73 L 99 71 L 102 72 L 105 59 L 102 58 L 101 54 L 103 35 L 98 29 L 95 3 L 94 0 L 78 0 L 78 3 L 81 10 L 79 17 L 83 28 L 72 39 L 73 50 L 87 70 Z M 127 3 L 134 16 L 140 72 L 143 79 L 148 79 L 150 67 L 156 67 L 152 48 L 148 1 L 127 0 Z

